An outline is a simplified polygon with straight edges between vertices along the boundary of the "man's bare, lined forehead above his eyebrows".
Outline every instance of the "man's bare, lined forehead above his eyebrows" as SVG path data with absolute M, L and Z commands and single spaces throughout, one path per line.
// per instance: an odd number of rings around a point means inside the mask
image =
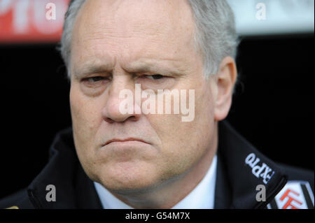
M 186 0 L 88 0 L 73 27 L 72 50 L 85 57 L 182 57 L 195 31 Z

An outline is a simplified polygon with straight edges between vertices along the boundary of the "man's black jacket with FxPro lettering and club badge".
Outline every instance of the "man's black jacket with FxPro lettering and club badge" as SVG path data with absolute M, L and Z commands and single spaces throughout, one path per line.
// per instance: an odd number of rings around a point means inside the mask
M 301 203 L 314 208 L 312 171 L 275 164 L 227 122 L 219 124 L 218 142 L 215 208 L 298 208 Z M 71 128 L 57 134 L 49 157 L 29 187 L 2 199 L 0 208 L 102 208 L 78 161 Z M 47 185 L 55 185 L 56 201 L 46 200 Z M 256 197 L 262 192 L 258 185 L 265 187 L 265 200 Z

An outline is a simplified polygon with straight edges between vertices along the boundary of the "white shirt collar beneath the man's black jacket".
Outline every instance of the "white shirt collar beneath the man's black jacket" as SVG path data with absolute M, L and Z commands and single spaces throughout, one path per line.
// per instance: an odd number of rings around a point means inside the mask
M 214 192 L 216 188 L 216 163 L 217 157 L 214 156 L 212 164 L 204 175 L 200 183 L 183 200 L 179 201 L 172 209 L 213 209 Z M 105 209 L 132 209 L 113 196 L 105 187 L 98 182 L 94 182 L 99 199 Z

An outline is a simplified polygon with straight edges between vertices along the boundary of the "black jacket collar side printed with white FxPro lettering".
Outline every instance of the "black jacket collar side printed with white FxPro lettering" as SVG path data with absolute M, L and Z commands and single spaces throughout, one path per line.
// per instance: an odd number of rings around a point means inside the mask
M 228 122 L 218 126 L 215 208 L 265 208 L 287 182 L 284 170 L 265 157 Z M 265 187 L 265 201 L 256 195 Z

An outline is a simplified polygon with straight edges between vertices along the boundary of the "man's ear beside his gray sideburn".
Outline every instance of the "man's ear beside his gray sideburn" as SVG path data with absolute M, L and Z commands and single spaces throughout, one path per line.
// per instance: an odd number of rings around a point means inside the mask
M 232 104 L 232 94 L 237 80 L 237 68 L 232 57 L 225 57 L 216 73 L 215 85 L 216 94 L 214 95 L 215 109 L 214 119 L 224 120 L 228 116 Z

